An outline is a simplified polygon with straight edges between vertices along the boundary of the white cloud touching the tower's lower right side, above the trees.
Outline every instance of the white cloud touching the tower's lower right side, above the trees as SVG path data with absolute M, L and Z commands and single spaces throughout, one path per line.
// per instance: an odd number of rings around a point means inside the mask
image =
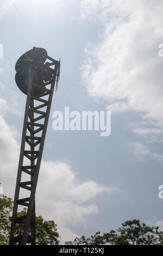
M 55 220 L 61 243 L 74 239 L 69 225 L 86 224 L 86 216 L 97 214 L 96 195 L 115 192 L 117 188 L 104 187 L 95 181 L 80 182 L 72 167 L 62 161 L 42 161 L 37 187 L 38 209 L 49 220 Z M 66 233 L 65 233 L 66 232 Z

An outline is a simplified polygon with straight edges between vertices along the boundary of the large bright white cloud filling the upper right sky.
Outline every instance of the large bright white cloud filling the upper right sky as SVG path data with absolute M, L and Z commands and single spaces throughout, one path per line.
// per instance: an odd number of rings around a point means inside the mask
M 107 99 L 112 111 L 136 111 L 162 127 L 162 1 L 81 1 L 81 6 L 83 19 L 95 15 L 104 28 L 101 42 L 86 49 L 87 92 Z

